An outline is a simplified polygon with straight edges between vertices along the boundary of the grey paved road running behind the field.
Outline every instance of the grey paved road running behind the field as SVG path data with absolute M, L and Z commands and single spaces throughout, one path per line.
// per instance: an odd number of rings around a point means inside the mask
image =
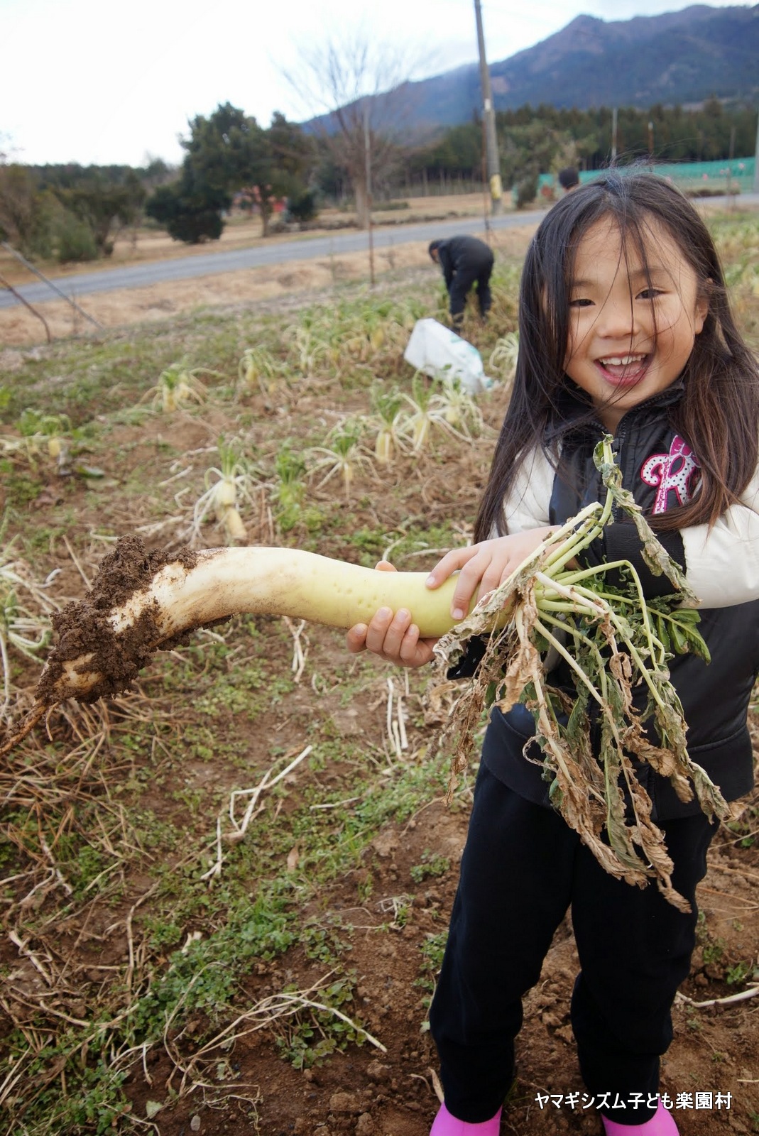
M 537 224 L 544 210 L 534 212 L 503 214 L 491 217 L 493 228 L 512 228 L 517 225 Z M 459 217 L 456 220 L 425 222 L 419 225 L 384 225 L 373 232 L 375 249 L 407 244 L 410 241 L 431 241 L 436 236 L 453 233 L 481 233 L 482 217 Z M 293 260 L 311 260 L 317 257 L 341 256 L 345 252 L 361 252 L 367 249 L 367 234 L 351 231 L 330 236 L 305 236 L 302 240 L 283 243 L 272 242 L 255 249 L 232 249 L 228 252 L 206 252 L 193 257 L 177 257 L 125 268 L 108 268 L 97 273 L 81 273 L 76 276 L 57 276 L 57 289 L 74 299 L 93 292 L 114 292 L 125 287 L 145 287 L 165 281 L 190 279 L 193 276 L 214 276 L 218 273 L 234 273 L 240 268 L 261 268 Z M 30 303 L 55 300 L 56 292 L 42 282 L 25 284 L 16 290 Z M 10 308 L 19 301 L 11 292 L 0 291 L 0 308 Z

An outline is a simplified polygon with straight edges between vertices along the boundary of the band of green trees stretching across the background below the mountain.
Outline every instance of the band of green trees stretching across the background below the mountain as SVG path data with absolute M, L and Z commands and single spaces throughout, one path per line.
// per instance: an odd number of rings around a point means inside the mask
M 144 167 L 24 166 L 0 161 L 0 237 L 28 257 L 60 261 L 107 257 L 124 231 L 144 218 L 175 240 L 222 235 L 233 204 L 256 211 L 264 235 L 286 202 L 286 218 L 312 219 L 320 203 L 352 200 L 366 224 L 370 199 L 425 190 L 429 182 L 482 182 L 483 128 L 477 116 L 433 137 L 411 141 L 373 126 L 358 102 L 328 128 L 303 128 L 275 114 L 268 127 L 231 103 L 189 124 L 178 168 L 161 159 Z M 532 200 L 541 173 L 562 166 L 600 169 L 652 157 L 712 161 L 753 153 L 754 108 L 709 99 L 701 107 L 648 110 L 524 106 L 497 114 L 501 178 Z M 365 160 L 366 159 L 366 160 Z M 367 181 L 367 177 L 369 181 Z

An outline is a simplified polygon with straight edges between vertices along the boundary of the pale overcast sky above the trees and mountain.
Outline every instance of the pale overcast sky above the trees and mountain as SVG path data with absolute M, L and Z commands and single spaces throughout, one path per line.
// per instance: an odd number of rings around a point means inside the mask
M 579 14 L 628 19 L 685 7 L 482 0 L 487 59 L 532 47 Z M 303 44 L 358 28 L 402 45 L 419 61 L 414 78 L 477 60 L 473 0 L 0 0 L 0 152 L 31 165 L 178 162 L 187 122 L 219 102 L 264 126 L 275 110 L 301 120 L 311 108 L 283 68 Z

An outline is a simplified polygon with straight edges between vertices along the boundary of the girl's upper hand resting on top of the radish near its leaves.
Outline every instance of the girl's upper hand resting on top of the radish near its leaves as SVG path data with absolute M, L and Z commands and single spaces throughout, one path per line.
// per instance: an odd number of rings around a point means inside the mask
M 482 600 L 494 591 L 554 532 L 556 527 L 549 525 L 481 541 L 466 549 L 453 549 L 432 569 L 427 587 L 440 587 L 444 579 L 460 569 L 451 601 L 451 616 L 453 619 L 464 619 L 475 593 L 477 600 Z

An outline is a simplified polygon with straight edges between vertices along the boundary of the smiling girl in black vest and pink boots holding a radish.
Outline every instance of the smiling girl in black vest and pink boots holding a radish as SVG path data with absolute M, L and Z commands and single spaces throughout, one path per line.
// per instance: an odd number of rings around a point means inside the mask
M 736 800 L 752 786 L 747 713 L 759 670 L 759 374 L 706 225 L 653 175 L 611 172 L 575 190 L 528 250 L 519 332 L 475 543 L 444 556 L 428 586 L 459 573 L 451 613 L 460 619 L 473 596 L 599 500 L 593 450 L 614 434 L 624 487 L 701 600 L 711 663 L 677 655 L 672 678 L 691 757 Z M 616 519 L 589 562 L 628 560 L 647 599 L 669 591 L 645 566 L 634 525 Z M 351 651 L 412 667 L 429 661 L 434 642 L 419 638 L 403 610 L 382 609 L 348 635 Z M 457 674 L 472 674 L 476 661 Z M 562 666 L 552 685 L 562 685 Z M 640 766 L 675 864 L 673 885 L 691 903 L 683 913 L 656 885 L 640 889 L 604 872 L 551 808 L 541 772 L 529 711 L 494 708 L 429 1014 L 445 1096 L 432 1136 L 497 1136 L 516 1076 L 522 999 L 568 910 L 581 967 L 572 1025 L 584 1114 L 597 1109 L 607 1136 L 672 1136 L 660 1058 L 690 969 L 695 888 L 715 825 Z M 690 1086 L 666 1087 L 674 1096 Z

